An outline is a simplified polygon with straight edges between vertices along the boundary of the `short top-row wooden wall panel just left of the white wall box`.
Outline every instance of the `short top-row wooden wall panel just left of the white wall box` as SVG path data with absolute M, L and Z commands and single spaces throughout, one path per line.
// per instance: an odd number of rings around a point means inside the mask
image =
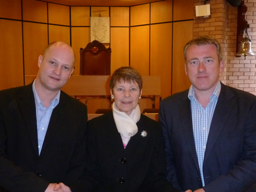
M 173 20 L 193 19 L 194 1 L 173 0 Z

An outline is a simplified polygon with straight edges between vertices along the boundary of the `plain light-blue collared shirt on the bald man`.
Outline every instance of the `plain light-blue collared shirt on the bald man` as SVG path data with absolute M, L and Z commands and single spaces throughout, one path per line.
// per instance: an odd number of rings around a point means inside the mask
M 47 128 L 49 125 L 49 121 L 52 115 L 53 109 L 59 104 L 60 101 L 60 92 L 56 95 L 56 97 L 52 100 L 51 105 L 49 108 L 45 108 L 40 100 L 36 88 L 35 88 L 35 81 L 33 82 L 33 93 L 35 97 L 35 104 L 36 104 L 36 124 L 37 124 L 37 138 L 38 138 L 38 153 L 42 150 L 44 144 L 45 134 L 47 132 Z

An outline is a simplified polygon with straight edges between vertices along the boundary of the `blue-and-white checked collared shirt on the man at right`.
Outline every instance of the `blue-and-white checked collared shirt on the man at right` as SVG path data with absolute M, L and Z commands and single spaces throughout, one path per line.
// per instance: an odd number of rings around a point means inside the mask
M 190 86 L 188 93 L 188 98 L 191 100 L 190 103 L 193 122 L 193 134 L 203 186 L 205 186 L 203 173 L 204 153 L 211 127 L 212 116 L 218 101 L 218 97 L 220 95 L 220 90 L 221 84 L 219 81 L 210 97 L 209 104 L 207 104 L 206 108 L 203 108 L 201 104 L 196 100 L 193 85 Z

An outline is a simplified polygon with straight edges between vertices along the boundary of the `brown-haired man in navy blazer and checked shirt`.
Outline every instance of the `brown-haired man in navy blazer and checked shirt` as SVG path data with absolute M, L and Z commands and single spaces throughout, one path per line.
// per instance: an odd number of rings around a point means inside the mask
M 183 191 L 249 191 L 256 182 L 256 97 L 220 82 L 215 38 L 189 41 L 184 58 L 191 87 L 160 104 L 168 180 Z

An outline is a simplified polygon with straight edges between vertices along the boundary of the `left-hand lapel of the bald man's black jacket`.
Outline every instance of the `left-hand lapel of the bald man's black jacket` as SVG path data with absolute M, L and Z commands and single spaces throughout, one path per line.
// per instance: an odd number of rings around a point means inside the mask
M 36 106 L 35 98 L 32 90 L 32 83 L 24 86 L 24 92 L 20 94 L 20 112 L 24 117 L 26 129 L 28 129 L 29 137 L 31 139 L 33 148 L 38 155 L 38 138 L 36 125 Z

